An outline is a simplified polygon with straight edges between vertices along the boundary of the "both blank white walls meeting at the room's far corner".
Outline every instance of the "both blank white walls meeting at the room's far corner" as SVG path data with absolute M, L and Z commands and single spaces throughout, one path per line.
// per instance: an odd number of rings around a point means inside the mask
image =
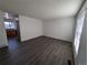
M 26 41 L 40 35 L 51 36 L 72 42 L 75 19 L 61 18 L 52 20 L 38 20 L 19 15 L 21 41 Z

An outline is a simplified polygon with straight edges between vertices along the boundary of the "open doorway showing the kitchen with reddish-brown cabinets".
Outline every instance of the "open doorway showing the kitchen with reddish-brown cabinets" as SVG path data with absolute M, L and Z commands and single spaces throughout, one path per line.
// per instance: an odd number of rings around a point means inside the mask
M 13 48 L 20 42 L 19 15 L 4 12 L 3 20 L 9 47 Z

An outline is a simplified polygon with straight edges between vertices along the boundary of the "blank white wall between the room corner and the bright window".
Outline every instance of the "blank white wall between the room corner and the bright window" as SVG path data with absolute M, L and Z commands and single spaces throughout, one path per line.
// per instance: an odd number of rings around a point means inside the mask
M 75 19 L 61 18 L 55 20 L 45 20 L 45 35 L 65 41 L 74 41 Z

